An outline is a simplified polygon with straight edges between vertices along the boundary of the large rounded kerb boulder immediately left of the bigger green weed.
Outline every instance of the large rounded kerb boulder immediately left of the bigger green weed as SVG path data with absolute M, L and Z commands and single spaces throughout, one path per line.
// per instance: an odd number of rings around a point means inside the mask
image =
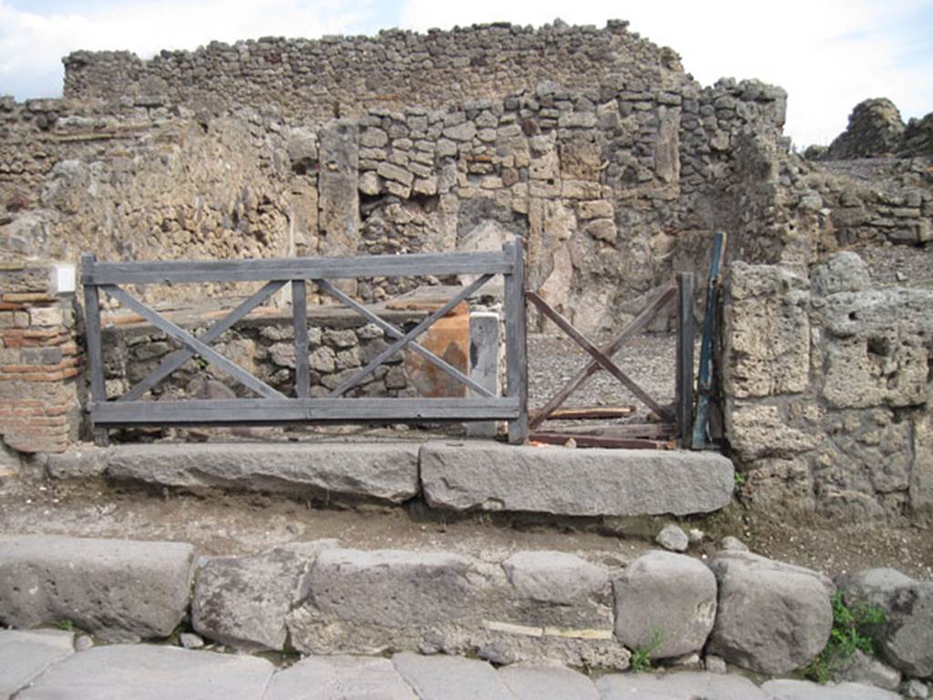
M 707 651 L 760 673 L 789 673 L 823 650 L 835 589 L 822 574 L 758 554 L 720 553 L 710 563 L 719 609 Z

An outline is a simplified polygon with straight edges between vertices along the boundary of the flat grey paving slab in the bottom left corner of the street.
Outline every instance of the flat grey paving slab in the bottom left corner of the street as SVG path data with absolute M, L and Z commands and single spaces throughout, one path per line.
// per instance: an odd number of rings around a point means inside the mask
M 74 635 L 57 630 L 0 630 L 0 700 L 74 653 Z

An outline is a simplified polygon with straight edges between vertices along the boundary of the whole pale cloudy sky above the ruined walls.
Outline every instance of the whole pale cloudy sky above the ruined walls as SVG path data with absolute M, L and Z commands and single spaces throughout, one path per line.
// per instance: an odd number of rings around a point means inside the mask
M 870 97 L 890 98 L 905 120 L 933 111 L 933 0 L 0 0 L 0 94 L 61 95 L 61 58 L 77 49 L 147 58 L 213 40 L 556 18 L 628 20 L 675 49 L 703 85 L 758 77 L 782 86 L 797 147 L 828 144 Z

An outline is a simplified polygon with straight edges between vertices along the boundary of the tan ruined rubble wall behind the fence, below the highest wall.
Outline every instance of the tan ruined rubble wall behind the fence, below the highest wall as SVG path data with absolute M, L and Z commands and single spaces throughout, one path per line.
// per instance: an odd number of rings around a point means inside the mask
M 712 231 L 735 216 L 722 191 L 743 173 L 739 145 L 753 134 L 775 143 L 785 100 L 756 81 L 703 89 L 681 74 L 663 88 L 613 74 L 587 90 L 541 81 L 503 99 L 372 108 L 320 128 L 151 96 L 12 105 L 8 160 L 43 152 L 28 159 L 32 180 L 0 179 L 0 248 L 327 256 L 498 248 L 518 234 L 531 287 L 583 328 L 609 328 L 673 270 L 703 267 Z M 358 292 L 378 301 L 421 282 L 363 280 Z

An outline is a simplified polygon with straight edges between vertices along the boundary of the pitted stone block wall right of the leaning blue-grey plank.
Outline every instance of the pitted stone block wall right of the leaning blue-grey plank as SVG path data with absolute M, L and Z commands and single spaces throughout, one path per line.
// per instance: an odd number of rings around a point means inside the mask
M 808 277 L 731 266 L 724 392 L 758 505 L 845 518 L 929 513 L 933 290 L 875 287 L 840 253 Z

